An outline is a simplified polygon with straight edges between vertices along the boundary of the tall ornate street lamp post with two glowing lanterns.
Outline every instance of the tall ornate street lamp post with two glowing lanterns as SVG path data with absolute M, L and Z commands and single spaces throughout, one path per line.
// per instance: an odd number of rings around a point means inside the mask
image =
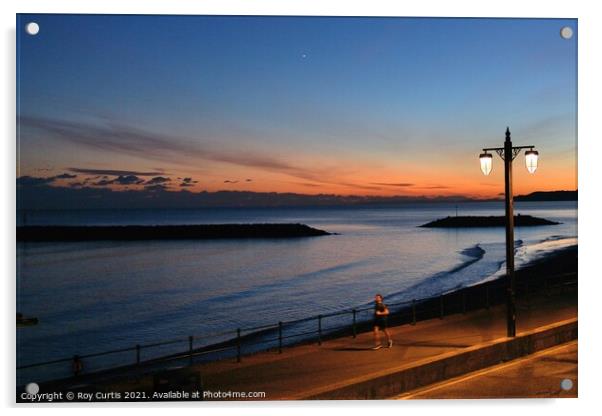
M 507 334 L 508 337 L 516 336 L 516 303 L 515 291 L 516 280 L 514 276 L 514 201 L 512 196 L 512 161 L 522 149 L 529 149 L 525 152 L 525 161 L 529 173 L 534 173 L 537 169 L 537 160 L 539 153 L 534 150 L 535 146 L 512 146 L 510 140 L 510 129 L 506 128 L 506 140 L 504 147 L 492 147 L 483 149 L 479 159 L 481 161 L 481 170 L 484 175 L 489 175 L 493 166 L 493 157 L 490 151 L 495 151 L 504 161 L 504 194 L 506 208 L 506 276 L 508 278 L 508 287 L 506 293 L 507 305 Z

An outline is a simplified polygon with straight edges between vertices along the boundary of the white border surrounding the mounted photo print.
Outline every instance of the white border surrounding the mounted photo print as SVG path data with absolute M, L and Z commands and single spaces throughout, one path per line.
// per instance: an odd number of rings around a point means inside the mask
M 94 404 L 77 405 L 38 405 L 43 411 L 63 414 L 65 411 L 106 412 L 107 407 L 144 407 L 145 412 L 162 414 L 165 407 L 180 410 L 193 408 L 194 411 L 217 412 L 220 414 L 287 414 L 302 415 L 308 410 L 320 409 L 323 412 L 345 411 L 351 414 L 366 412 L 428 412 L 448 416 L 450 414 L 506 414 L 509 410 L 549 412 L 566 415 L 567 412 L 585 411 L 596 404 L 597 388 L 600 384 L 600 305 L 601 289 L 599 266 L 595 264 L 597 240 L 602 230 L 599 216 L 600 198 L 599 170 L 596 170 L 598 154 L 601 154 L 602 132 L 599 123 L 600 81 L 602 74 L 599 42 L 602 40 L 602 22 L 596 14 L 595 2 L 578 1 L 468 1 L 468 0 L 422 0 L 416 2 L 394 1 L 354 1 L 321 0 L 277 1 L 277 0 L 10 0 L 0 5 L 0 18 L 3 24 L 2 126 L 4 137 L 1 141 L 3 157 L 2 219 L 1 235 L 4 283 L 3 329 L 5 336 L 0 342 L 2 348 L 2 374 L 0 394 L 5 406 L 15 407 L 15 14 L 16 13 L 113 13 L 113 14 L 238 14 L 238 15 L 346 15 L 346 16 L 446 16 L 446 17 L 550 17 L 579 19 L 579 309 L 581 345 L 579 348 L 579 399 L 571 400 L 457 400 L 457 401 L 414 401 L 390 402 L 272 402 L 272 403 L 152 403 L 152 404 Z M 596 76 L 597 75 L 597 76 Z M 596 107 L 597 105 L 597 107 Z M 597 110 L 597 111 L 596 111 Z M 599 254 L 598 254 L 599 256 Z M 376 406 L 377 409 L 372 409 Z M 32 407 L 20 405 L 17 407 Z M 85 409 L 84 409 L 85 407 Z M 197 408 L 201 409 L 197 409 Z M 536 409 L 535 409 L 536 407 Z M 511 408 L 511 409 L 509 409 Z M 315 409 L 315 410 L 314 410 Z M 32 409 L 29 409 L 31 411 Z

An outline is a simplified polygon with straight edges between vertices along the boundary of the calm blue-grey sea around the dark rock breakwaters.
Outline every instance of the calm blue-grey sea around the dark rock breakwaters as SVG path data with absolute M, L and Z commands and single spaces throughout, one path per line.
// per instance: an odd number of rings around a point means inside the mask
M 333 233 L 291 239 L 17 243 L 17 367 L 175 340 L 142 358 L 229 339 L 241 328 L 436 296 L 505 267 L 503 228 L 421 228 L 455 215 L 503 215 L 503 202 L 387 207 L 19 212 L 26 225 L 302 223 Z M 577 202 L 517 202 L 516 265 L 577 244 Z M 368 315 L 365 316 L 368 319 Z M 345 318 L 347 319 L 347 318 Z M 361 319 L 361 318 L 360 318 Z M 333 320 L 333 325 L 339 321 Z M 329 323 L 324 322 L 324 330 Z M 289 328 L 287 327 L 287 331 Z M 291 340 L 292 342 L 293 340 Z M 127 350 L 86 370 L 131 363 Z M 59 362 L 17 371 L 18 384 L 66 377 Z

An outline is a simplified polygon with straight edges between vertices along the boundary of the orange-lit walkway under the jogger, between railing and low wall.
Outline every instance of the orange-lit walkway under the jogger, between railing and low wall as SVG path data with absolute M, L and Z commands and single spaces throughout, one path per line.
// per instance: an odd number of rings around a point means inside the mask
M 538 296 L 529 304 L 518 303 L 517 332 L 576 317 L 576 293 Z M 504 338 L 505 306 L 390 330 L 394 340 L 391 349 L 373 351 L 372 334 L 362 333 L 356 339 L 343 337 L 321 346 L 301 345 L 282 354 L 259 353 L 244 357 L 241 363 L 214 362 L 191 371 L 200 372 L 206 391 L 264 392 L 266 400 L 328 398 L 324 392 L 346 381 L 377 377 L 393 367 Z

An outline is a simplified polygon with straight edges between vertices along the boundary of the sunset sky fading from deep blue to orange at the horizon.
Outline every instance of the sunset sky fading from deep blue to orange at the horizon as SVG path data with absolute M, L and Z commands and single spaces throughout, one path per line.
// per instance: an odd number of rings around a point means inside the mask
M 40 25 L 27 35 L 27 22 Z M 560 36 L 571 26 L 575 36 Z M 497 197 L 577 187 L 576 20 L 20 15 L 17 176 Z

